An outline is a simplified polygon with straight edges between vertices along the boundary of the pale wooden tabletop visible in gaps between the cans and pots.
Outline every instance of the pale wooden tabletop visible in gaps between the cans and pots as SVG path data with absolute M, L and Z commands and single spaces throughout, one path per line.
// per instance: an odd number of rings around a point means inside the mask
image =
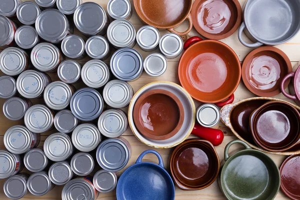
M 93 1 L 96 2 L 98 4 L 100 4 L 105 10 L 106 10 L 106 4 L 108 0 L 83 0 L 85 1 Z M 132 9 L 133 8 L 133 2 L 132 0 L 130 0 L 131 5 L 132 5 Z M 246 0 L 239 0 L 241 6 L 243 7 Z M 130 21 L 134 24 L 135 29 L 138 30 L 141 26 L 143 26 L 143 23 L 139 20 L 138 16 L 136 15 L 135 10 L 133 10 L 133 14 L 132 17 L 130 18 Z M 177 27 L 178 30 L 184 30 L 187 28 L 187 22 L 184 21 L 179 27 Z M 167 33 L 167 30 L 160 30 L 160 35 L 163 35 L 165 33 Z M 78 30 L 75 30 L 75 33 L 78 33 Z M 192 31 L 188 34 L 188 36 L 194 36 L 194 35 L 199 35 L 195 29 L 193 28 Z M 246 56 L 246 54 L 248 52 L 250 52 L 252 50 L 252 48 L 247 48 L 245 46 L 243 46 L 238 38 L 237 38 L 237 31 L 231 35 L 228 38 L 222 39 L 222 42 L 228 44 L 238 55 L 239 60 L 242 62 L 244 57 Z M 290 61 L 292 62 L 292 66 L 293 66 L 293 70 L 295 70 L 297 68 L 297 62 L 300 60 L 300 53 L 299 53 L 299 49 L 300 49 L 300 33 L 298 35 L 296 35 L 292 40 L 290 40 L 288 43 L 284 43 L 281 45 L 277 45 L 277 48 L 283 50 L 289 57 Z M 137 49 L 141 55 L 143 56 L 143 58 L 146 57 L 147 54 L 149 54 L 148 52 L 144 52 L 142 51 L 138 45 L 136 44 L 134 46 L 135 49 Z M 156 52 L 158 52 L 158 50 L 156 50 Z M 149 75 L 147 75 L 145 72 L 143 72 L 142 76 L 133 81 L 133 82 L 129 82 L 130 85 L 133 87 L 134 91 L 137 91 L 141 86 L 152 82 L 152 81 L 156 81 L 156 80 L 168 80 L 168 81 L 172 81 L 175 83 L 179 83 L 178 82 L 178 78 L 177 78 L 177 65 L 178 65 L 178 60 L 179 60 L 180 56 L 178 56 L 177 58 L 174 59 L 168 59 L 168 67 L 166 72 L 161 75 L 160 77 L 150 77 Z M 85 57 L 83 60 L 80 60 L 81 64 L 84 64 L 86 61 L 88 61 L 89 58 Z M 109 59 L 107 60 L 107 63 Z M 52 81 L 54 80 L 58 80 L 58 77 L 56 74 L 49 74 L 51 76 Z M 77 89 L 84 87 L 83 83 L 78 83 L 74 85 Z M 245 99 L 245 98 L 249 98 L 249 97 L 254 97 L 255 95 L 252 94 L 243 84 L 243 82 L 241 81 L 238 88 L 236 89 L 236 91 L 234 92 L 235 95 L 235 102 Z M 277 98 L 280 99 L 284 99 L 284 100 L 288 100 L 291 101 L 290 99 L 286 98 L 285 96 L 283 96 L 283 94 L 279 94 L 277 96 L 275 96 Z M 2 107 L 3 103 L 4 103 L 4 99 L 0 99 L 0 105 Z M 42 103 L 43 100 L 42 99 L 33 99 L 32 100 L 33 104 L 38 104 L 38 103 Z M 199 102 L 195 101 L 196 106 L 199 105 Z M 127 111 L 127 108 L 124 109 L 125 111 Z M 1 114 L 0 114 L 0 149 L 4 149 L 5 146 L 3 144 L 3 135 L 5 133 L 5 131 L 12 125 L 16 125 L 16 124 L 22 124 L 23 121 L 19 120 L 19 121 L 10 121 L 7 118 L 5 118 L 5 116 L 3 115 L 2 109 L 0 109 Z M 218 152 L 219 158 L 220 160 L 223 159 L 223 151 L 224 151 L 224 147 L 225 145 L 233 140 L 236 139 L 235 136 L 233 136 L 232 132 L 221 122 L 219 122 L 214 128 L 218 128 L 221 129 L 224 134 L 224 141 L 222 142 L 222 144 L 220 144 L 219 146 L 216 146 L 216 150 Z M 49 132 L 45 132 L 41 134 L 41 140 L 39 143 L 39 146 L 43 145 L 43 142 L 45 140 L 45 138 L 47 137 L 47 135 L 49 135 L 50 133 L 56 132 L 56 130 L 51 130 Z M 127 166 L 125 168 L 127 168 L 128 166 L 130 166 L 131 164 L 133 164 L 135 162 L 135 160 L 137 159 L 138 155 L 143 152 L 146 149 L 151 149 L 149 146 L 141 143 L 139 140 L 136 139 L 136 137 L 133 135 L 132 131 L 130 130 L 130 128 L 127 129 L 127 131 L 125 133 L 123 133 L 122 135 L 124 138 L 126 138 L 129 143 L 131 144 L 131 148 L 132 148 L 132 154 L 131 154 L 131 158 L 127 164 Z M 195 137 L 195 136 L 190 136 L 190 137 Z M 238 147 L 241 146 L 233 146 L 231 151 L 237 150 Z M 169 154 L 171 152 L 172 149 L 155 149 L 157 150 L 163 157 L 163 161 L 164 161 L 164 166 L 165 168 L 168 168 L 168 157 Z M 273 158 L 273 160 L 276 162 L 276 164 L 279 166 L 281 164 L 281 162 L 283 161 L 283 159 L 285 159 L 286 156 L 278 156 L 278 155 L 271 155 L 270 156 Z M 144 160 L 150 160 L 150 161 L 154 161 L 157 162 L 157 158 L 154 155 L 146 155 L 144 157 Z M 97 165 L 97 164 L 96 164 Z M 95 167 L 94 172 L 96 172 L 97 170 L 99 170 L 99 166 Z M 23 171 L 27 171 L 26 169 L 24 169 Z M 3 183 L 4 180 L 0 180 L 0 199 L 8 199 L 4 193 L 3 193 Z M 33 196 L 32 194 L 27 194 L 25 195 L 22 199 L 51 199 L 51 200 L 56 200 L 56 199 L 61 199 L 61 190 L 62 190 L 62 186 L 55 186 L 54 189 L 52 189 L 51 191 L 49 191 L 46 195 L 44 196 Z M 208 186 L 205 189 L 202 190 L 197 190 L 197 191 L 182 191 L 180 189 L 178 189 L 176 187 L 175 189 L 176 191 L 176 197 L 175 199 L 186 199 L 186 200 L 191 200 L 191 199 L 206 199 L 206 200 L 220 200 L 220 199 L 225 199 L 224 196 L 222 195 L 221 191 L 218 188 L 218 185 L 216 182 L 214 182 L 212 185 Z M 113 200 L 116 199 L 115 197 L 115 190 L 109 193 L 100 193 L 98 196 L 98 199 L 103 199 L 103 200 Z M 283 200 L 283 199 L 288 199 L 281 191 L 279 191 L 278 195 L 275 198 L 276 200 Z M 138 200 L 142 200 L 142 199 L 138 199 Z M 154 200 L 154 199 L 153 199 Z M 155 199 L 156 200 L 156 199 Z M 159 199 L 157 199 L 159 200 Z

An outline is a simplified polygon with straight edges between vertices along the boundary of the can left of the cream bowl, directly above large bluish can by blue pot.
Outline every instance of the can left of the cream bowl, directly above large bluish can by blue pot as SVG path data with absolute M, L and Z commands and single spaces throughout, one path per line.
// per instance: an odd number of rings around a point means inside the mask
M 101 113 L 98 120 L 98 128 L 106 137 L 118 137 L 128 127 L 128 119 L 121 109 L 108 109 Z

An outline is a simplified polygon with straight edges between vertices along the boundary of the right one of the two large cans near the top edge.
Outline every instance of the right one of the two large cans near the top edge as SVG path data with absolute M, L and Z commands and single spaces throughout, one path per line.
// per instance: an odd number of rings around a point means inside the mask
M 94 2 L 79 5 L 73 16 L 77 29 L 86 36 L 106 34 L 109 19 L 104 9 Z

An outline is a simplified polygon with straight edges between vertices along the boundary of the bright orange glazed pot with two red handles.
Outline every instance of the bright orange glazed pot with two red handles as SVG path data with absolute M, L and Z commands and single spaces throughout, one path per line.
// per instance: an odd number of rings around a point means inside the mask
M 191 45 L 190 45 L 191 44 Z M 189 46 L 190 45 L 190 46 Z M 216 40 L 190 37 L 178 64 L 180 84 L 196 100 L 220 105 L 233 102 L 240 81 L 240 63 L 235 52 Z

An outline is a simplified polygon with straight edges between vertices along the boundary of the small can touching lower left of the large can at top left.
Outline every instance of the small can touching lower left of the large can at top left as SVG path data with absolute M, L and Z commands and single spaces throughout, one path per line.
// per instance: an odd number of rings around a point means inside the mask
M 25 1 L 30 2 L 30 1 Z M 31 25 L 22 25 L 15 31 L 15 43 L 24 49 L 33 48 L 39 41 L 38 34 Z

